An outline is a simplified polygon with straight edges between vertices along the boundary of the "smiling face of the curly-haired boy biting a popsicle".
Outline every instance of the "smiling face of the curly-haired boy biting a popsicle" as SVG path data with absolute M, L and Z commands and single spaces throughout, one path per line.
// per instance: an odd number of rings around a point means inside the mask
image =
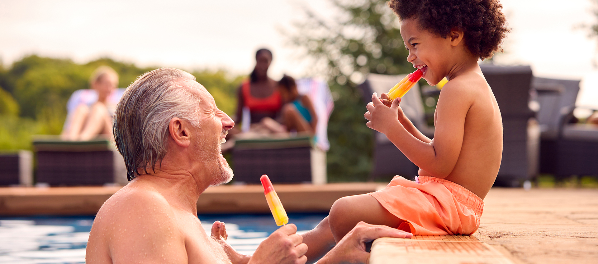
M 407 61 L 422 69 L 423 79 L 429 85 L 436 85 L 449 74 L 450 38 L 420 29 L 417 18 L 401 21 L 401 36 L 409 51 Z

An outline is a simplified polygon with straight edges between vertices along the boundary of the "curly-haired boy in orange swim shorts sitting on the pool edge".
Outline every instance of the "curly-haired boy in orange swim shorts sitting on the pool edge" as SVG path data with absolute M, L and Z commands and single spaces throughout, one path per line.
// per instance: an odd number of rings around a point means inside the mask
M 388 107 L 377 94 L 364 114 L 419 169 L 419 181 L 395 176 L 383 190 L 343 197 L 303 242 L 310 260 L 325 253 L 359 221 L 413 235 L 468 235 L 478 229 L 482 199 L 501 166 L 502 119 L 478 66 L 500 50 L 508 29 L 498 0 L 391 0 L 401 20 L 407 61 L 436 85 L 449 79 L 434 114 L 434 139 L 405 117 L 400 98 Z M 382 94 L 388 98 L 388 94 Z

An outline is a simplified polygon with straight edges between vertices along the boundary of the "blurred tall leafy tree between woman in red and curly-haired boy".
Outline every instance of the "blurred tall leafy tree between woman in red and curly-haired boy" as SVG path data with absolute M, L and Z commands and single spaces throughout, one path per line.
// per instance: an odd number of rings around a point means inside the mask
M 292 45 L 315 58 L 311 74 L 327 73 L 334 111 L 328 125 L 328 181 L 365 181 L 371 171 L 373 130 L 364 119 L 357 85 L 368 73 L 413 72 L 407 62 L 396 15 L 384 0 L 332 1 L 338 17 L 324 18 L 304 8 L 307 19 L 286 33 Z

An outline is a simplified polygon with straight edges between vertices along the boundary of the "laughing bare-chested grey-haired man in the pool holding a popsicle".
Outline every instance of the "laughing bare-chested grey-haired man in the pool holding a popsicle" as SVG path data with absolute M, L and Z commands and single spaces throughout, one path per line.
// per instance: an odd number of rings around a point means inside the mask
M 242 256 L 225 243 L 223 223 L 216 221 L 210 236 L 197 218 L 202 192 L 233 178 L 220 149 L 233 126 L 187 72 L 157 69 L 135 80 L 114 122 L 130 182 L 97 213 L 86 263 L 305 263 L 307 246 L 295 225 L 282 226 L 253 256 Z M 408 235 L 359 223 L 319 262 L 365 263 L 365 242 Z

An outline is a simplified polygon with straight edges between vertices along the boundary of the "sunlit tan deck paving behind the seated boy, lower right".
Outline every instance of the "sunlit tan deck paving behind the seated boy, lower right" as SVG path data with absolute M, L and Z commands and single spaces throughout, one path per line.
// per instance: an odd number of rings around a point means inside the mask
M 515 263 L 598 263 L 598 190 L 492 188 L 474 234 Z

